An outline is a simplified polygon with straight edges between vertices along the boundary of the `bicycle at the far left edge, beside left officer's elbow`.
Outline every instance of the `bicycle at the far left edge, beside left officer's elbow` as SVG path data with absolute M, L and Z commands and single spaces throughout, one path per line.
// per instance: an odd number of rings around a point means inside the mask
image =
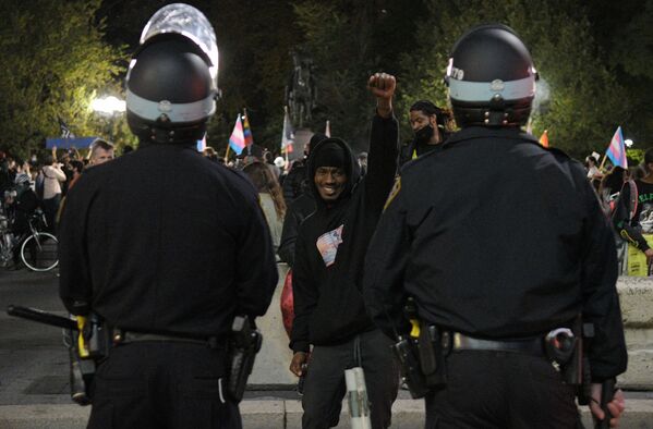
M 49 232 L 40 231 L 46 225 L 45 213 L 36 209 L 28 219 L 29 231 L 15 235 L 11 230 L 12 219 L 0 211 L 0 267 L 9 267 L 14 252 L 20 246 L 21 261 L 32 271 L 49 271 L 59 265 L 59 241 Z

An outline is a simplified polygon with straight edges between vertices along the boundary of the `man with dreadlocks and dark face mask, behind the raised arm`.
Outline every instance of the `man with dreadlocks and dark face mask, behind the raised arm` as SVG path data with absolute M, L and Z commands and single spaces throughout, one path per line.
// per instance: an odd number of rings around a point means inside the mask
M 409 120 L 415 137 L 401 148 L 400 167 L 438 148 L 449 136 L 447 113 L 428 100 L 415 101 L 410 107 Z

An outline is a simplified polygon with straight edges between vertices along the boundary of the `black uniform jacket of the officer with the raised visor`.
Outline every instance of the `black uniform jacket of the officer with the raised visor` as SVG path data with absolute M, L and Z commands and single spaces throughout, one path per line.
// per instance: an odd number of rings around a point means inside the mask
M 87 170 L 60 230 L 60 295 L 125 330 L 220 336 L 277 284 L 257 194 L 191 147 L 149 145 Z

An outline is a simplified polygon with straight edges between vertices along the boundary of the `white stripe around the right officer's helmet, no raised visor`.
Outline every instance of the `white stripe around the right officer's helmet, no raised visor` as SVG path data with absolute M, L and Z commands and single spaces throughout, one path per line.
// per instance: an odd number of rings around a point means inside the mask
M 457 101 L 489 101 L 496 95 L 519 100 L 535 95 L 535 76 L 519 81 L 469 82 L 449 78 L 449 96 Z

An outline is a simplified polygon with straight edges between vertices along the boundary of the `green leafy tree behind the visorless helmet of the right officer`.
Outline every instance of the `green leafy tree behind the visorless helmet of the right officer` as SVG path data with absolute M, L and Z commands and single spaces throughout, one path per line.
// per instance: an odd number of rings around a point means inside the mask
M 479 23 L 498 22 L 512 27 L 531 50 L 541 76 L 533 113 L 534 134 L 548 130 L 552 146 L 575 156 L 603 152 L 617 125 L 631 108 L 624 88 L 601 61 L 587 10 L 581 2 L 564 0 L 431 0 L 420 24 L 426 41 L 403 58 L 401 106 L 416 98 L 445 100 L 442 83 L 449 50 L 464 30 Z

